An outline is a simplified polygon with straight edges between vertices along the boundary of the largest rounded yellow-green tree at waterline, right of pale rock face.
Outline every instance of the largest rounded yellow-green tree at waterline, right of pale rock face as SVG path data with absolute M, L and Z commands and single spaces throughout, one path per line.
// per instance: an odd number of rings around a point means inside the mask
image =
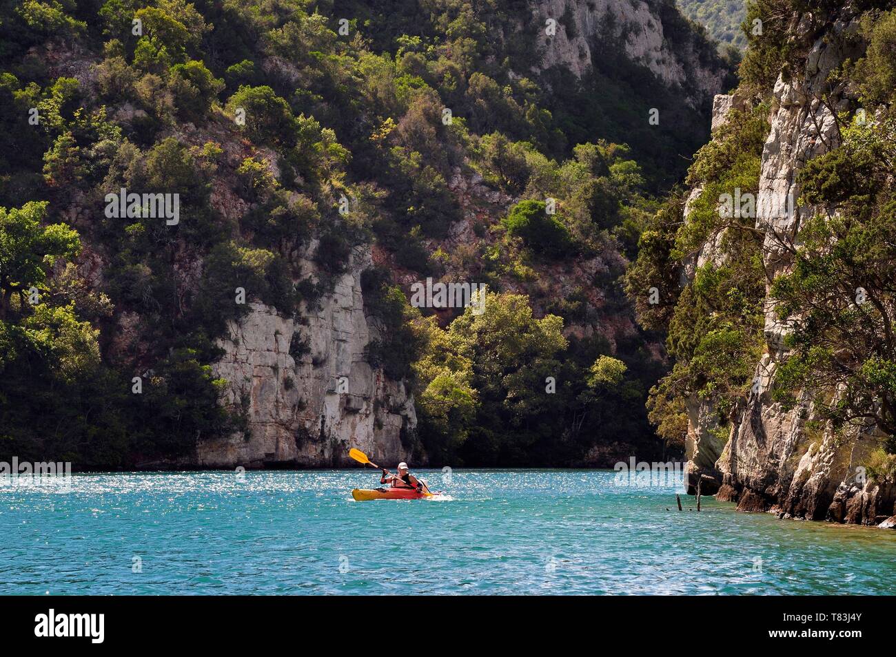
M 421 439 L 446 456 L 526 463 L 538 441 L 558 439 L 560 402 L 547 394 L 546 380 L 562 369 L 558 358 L 568 345 L 563 320 L 536 319 L 521 294 L 487 293 L 480 303 L 483 312 L 470 306 L 443 337 L 431 338 L 417 365 L 424 417 L 435 422 L 421 427 Z M 450 404 L 439 411 L 435 400 L 443 397 Z M 459 440 L 446 436 L 446 426 L 460 432 Z

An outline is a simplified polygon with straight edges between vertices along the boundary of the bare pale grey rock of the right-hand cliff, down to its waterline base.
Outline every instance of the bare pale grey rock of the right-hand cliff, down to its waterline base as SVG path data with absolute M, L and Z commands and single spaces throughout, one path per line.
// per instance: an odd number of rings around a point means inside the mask
M 822 33 L 813 33 L 807 15 L 797 24 L 797 38 L 812 45 L 802 71 L 789 81 L 779 78 L 773 92 L 771 132 L 762 152 L 762 173 L 757 197 L 756 226 L 766 231 L 763 261 L 773 278 L 789 266 L 788 254 L 773 235 L 798 235 L 801 223 L 819 211 L 797 207 L 791 214 L 777 211 L 780 201 L 798 199 L 795 182 L 806 161 L 837 145 L 833 111 L 848 107 L 834 93 L 820 100 L 828 74 L 857 53 L 846 38 L 856 30 L 844 10 Z M 852 48 L 856 47 L 855 45 Z M 717 97 L 713 127 L 737 98 Z M 798 238 L 797 238 L 798 242 Z M 711 245 L 704 248 L 704 254 Z M 694 400 L 689 410 L 687 456 L 692 490 L 702 478 L 702 492 L 718 491 L 718 498 L 737 502 L 744 511 L 770 511 L 783 517 L 830 520 L 863 525 L 893 526 L 896 513 L 892 486 L 866 479 L 860 465 L 875 447 L 875 436 L 852 431 L 837 436 L 818 431 L 808 401 L 785 411 L 771 400 L 769 389 L 780 356 L 785 329 L 771 304 L 766 304 L 764 334 L 768 344 L 755 370 L 758 391 L 737 412 L 728 439 L 720 439 L 707 408 Z M 888 520 L 889 518 L 889 520 Z

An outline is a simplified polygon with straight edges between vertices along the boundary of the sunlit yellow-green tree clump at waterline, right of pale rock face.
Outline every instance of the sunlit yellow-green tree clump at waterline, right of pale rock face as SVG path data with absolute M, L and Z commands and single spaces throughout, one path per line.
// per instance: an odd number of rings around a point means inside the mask
M 607 354 L 606 341 L 567 339 L 563 318 L 536 319 L 520 294 L 487 293 L 485 307 L 481 314 L 468 309 L 446 331 L 418 322 L 427 341 L 415 363 L 418 412 L 432 456 L 564 464 L 581 459 L 591 431 L 655 450 L 638 408 L 657 364 L 651 369 L 629 347 L 622 351 L 630 369 Z

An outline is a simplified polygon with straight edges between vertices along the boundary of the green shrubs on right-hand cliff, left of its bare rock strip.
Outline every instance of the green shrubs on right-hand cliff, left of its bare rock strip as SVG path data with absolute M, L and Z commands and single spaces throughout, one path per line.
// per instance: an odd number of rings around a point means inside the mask
M 702 192 L 686 220 L 682 201 L 673 196 L 642 233 L 638 260 L 626 277 L 642 324 L 668 332 L 675 364 L 650 391 L 649 407 L 659 434 L 674 443 L 684 437 L 688 398 L 711 402 L 719 421 L 728 422 L 762 352 L 762 235 L 753 215 L 721 216 L 719 198 L 758 191 L 766 111 L 734 112 L 697 153 L 688 183 Z M 713 251 L 697 267 L 706 243 Z M 683 261 L 694 274 L 681 289 Z

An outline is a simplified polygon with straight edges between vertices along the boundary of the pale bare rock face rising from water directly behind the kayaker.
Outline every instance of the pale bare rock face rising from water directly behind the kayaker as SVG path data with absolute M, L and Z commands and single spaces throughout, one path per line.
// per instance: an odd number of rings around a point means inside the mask
M 313 270 L 310 260 L 302 264 Z M 198 465 L 340 466 L 348 465 L 349 448 L 383 463 L 421 465 L 409 439 L 417 425 L 410 391 L 366 359 L 376 337 L 360 284 L 369 265 L 369 250 L 353 252 L 332 293 L 300 320 L 251 303 L 246 317 L 230 323 L 214 369 L 228 381 L 225 401 L 244 414 L 246 426 L 202 441 Z

